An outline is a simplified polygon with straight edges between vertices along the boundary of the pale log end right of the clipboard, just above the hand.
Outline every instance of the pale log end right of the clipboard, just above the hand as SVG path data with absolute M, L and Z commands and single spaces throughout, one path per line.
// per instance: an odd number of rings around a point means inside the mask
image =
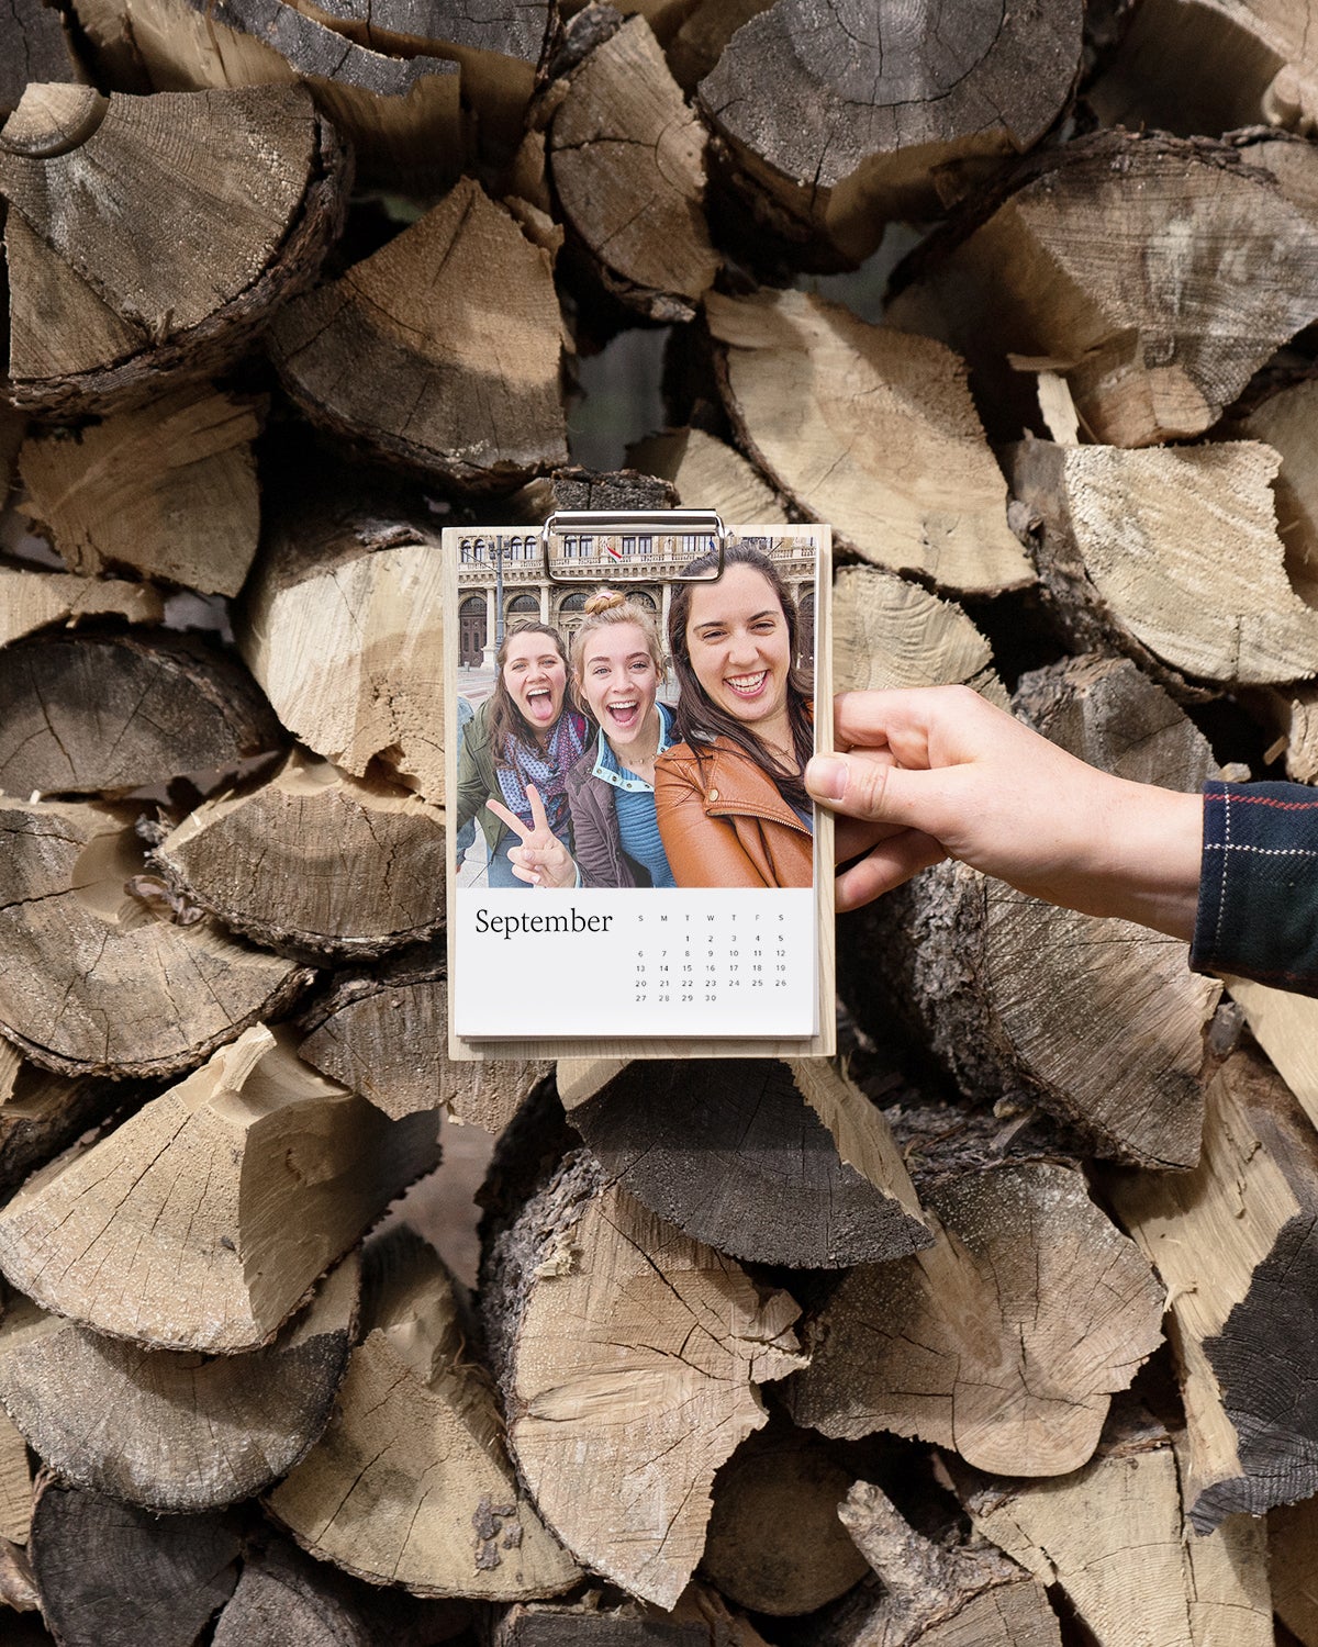
M 880 567 L 834 575 L 834 687 L 974 687 L 1007 708 L 993 651 L 956 601 Z

